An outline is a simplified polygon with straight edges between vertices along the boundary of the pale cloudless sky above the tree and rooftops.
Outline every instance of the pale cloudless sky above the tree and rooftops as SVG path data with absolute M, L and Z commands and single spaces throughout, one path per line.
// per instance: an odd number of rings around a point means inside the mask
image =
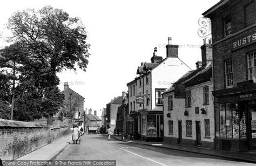
M 137 75 L 141 62 L 149 62 L 154 47 L 166 57 L 167 38 L 179 45 L 179 58 L 192 69 L 201 60 L 198 35 L 201 13 L 219 0 L 8 0 L 0 6 L 0 34 L 8 35 L 5 24 L 17 10 L 41 9 L 45 5 L 63 9 L 71 17 L 80 17 L 91 44 L 86 72 L 58 73 L 60 91 L 64 82 L 85 98 L 84 108 L 101 111 L 114 97 L 128 91 L 127 82 Z M 1 36 L 0 36 L 1 37 Z M 0 47 L 6 43 L 0 38 Z

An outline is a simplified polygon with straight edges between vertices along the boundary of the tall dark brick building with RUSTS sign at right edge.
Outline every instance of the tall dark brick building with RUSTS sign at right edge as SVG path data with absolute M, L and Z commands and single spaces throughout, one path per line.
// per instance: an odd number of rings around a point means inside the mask
M 256 2 L 223 0 L 212 23 L 215 148 L 256 150 Z

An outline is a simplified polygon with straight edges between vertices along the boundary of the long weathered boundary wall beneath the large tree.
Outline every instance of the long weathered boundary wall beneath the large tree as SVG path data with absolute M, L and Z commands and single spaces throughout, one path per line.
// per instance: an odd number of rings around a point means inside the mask
M 70 127 L 48 127 L 38 123 L 0 119 L 0 157 L 13 160 L 69 135 Z

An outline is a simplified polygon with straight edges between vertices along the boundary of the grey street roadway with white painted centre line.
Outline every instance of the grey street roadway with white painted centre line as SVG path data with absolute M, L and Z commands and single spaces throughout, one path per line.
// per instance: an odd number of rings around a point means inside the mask
M 255 165 L 160 147 L 107 141 L 107 135 L 83 135 L 53 160 L 116 160 L 117 165 Z

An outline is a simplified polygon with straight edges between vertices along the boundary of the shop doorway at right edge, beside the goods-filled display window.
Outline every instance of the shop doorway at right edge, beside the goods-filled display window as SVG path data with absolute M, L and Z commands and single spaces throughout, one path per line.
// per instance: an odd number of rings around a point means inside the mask
M 256 107 L 249 109 L 249 148 L 250 150 L 256 150 Z

